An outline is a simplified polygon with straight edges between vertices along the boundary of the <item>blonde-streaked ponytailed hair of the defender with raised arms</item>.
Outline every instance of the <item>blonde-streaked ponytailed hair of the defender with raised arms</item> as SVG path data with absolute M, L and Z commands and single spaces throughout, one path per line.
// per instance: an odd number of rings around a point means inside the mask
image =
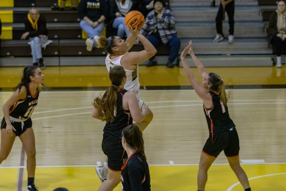
M 216 73 L 209 73 L 208 76 L 210 77 L 208 82 L 212 85 L 210 90 L 218 92 L 219 99 L 221 102 L 223 102 L 223 105 L 227 106 L 227 99 L 229 98 L 229 94 L 225 92 L 225 82 Z

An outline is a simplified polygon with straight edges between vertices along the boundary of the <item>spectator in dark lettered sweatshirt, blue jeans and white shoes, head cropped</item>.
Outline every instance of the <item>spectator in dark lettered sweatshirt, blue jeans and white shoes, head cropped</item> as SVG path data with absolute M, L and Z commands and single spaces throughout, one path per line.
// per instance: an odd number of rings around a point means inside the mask
M 80 27 L 89 36 L 86 39 L 86 50 L 92 51 L 97 46 L 96 40 L 100 37 L 104 28 L 104 21 L 108 16 L 106 0 L 81 0 L 78 5 Z

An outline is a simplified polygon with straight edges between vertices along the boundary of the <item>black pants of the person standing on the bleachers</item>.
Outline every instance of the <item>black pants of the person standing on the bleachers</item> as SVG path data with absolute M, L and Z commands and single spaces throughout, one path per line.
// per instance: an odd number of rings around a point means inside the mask
M 230 2 L 225 6 L 225 11 L 229 17 L 229 34 L 234 33 L 234 1 Z M 223 35 L 223 5 L 219 5 L 219 11 L 217 12 L 217 17 L 215 18 L 217 25 L 217 34 Z

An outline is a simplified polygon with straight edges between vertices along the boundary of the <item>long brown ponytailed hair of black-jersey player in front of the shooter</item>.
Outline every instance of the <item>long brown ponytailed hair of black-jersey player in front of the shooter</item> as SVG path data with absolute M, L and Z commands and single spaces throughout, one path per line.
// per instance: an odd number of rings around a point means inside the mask
M 111 85 L 109 86 L 106 97 L 100 99 L 97 97 L 94 99 L 94 103 L 92 104 L 96 107 L 98 111 L 98 115 L 102 121 L 112 122 L 114 120 L 114 115 L 116 112 L 116 103 L 117 103 L 117 93 L 116 91 L 119 88 L 123 78 L 126 77 L 125 70 L 122 66 L 115 66 L 111 68 L 109 71 L 109 78 L 111 80 Z

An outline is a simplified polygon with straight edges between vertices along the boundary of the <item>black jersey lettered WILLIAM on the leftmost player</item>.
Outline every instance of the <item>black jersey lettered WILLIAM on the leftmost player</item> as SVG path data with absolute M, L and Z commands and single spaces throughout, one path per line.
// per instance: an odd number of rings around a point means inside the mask
M 10 116 L 20 119 L 26 120 L 29 119 L 37 106 L 38 97 L 39 97 L 39 88 L 37 88 L 37 92 L 35 95 L 32 94 L 29 86 L 26 87 L 27 95 L 25 99 L 18 100 L 14 105 L 9 108 Z M 18 90 L 16 90 L 18 91 Z

